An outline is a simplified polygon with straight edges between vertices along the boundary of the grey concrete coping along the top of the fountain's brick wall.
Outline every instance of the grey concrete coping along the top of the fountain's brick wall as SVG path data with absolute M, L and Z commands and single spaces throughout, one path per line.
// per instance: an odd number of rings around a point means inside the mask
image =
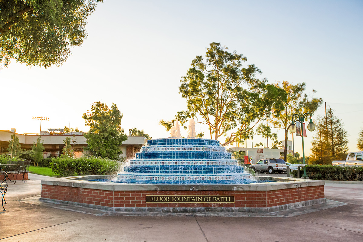
M 251 176 L 251 179 L 271 180 L 274 182 L 257 182 L 251 184 L 125 184 L 87 181 L 94 179 L 114 179 L 115 177 L 115 175 L 70 176 L 42 180 L 41 184 L 109 191 L 269 191 L 325 185 L 325 181 L 268 176 Z

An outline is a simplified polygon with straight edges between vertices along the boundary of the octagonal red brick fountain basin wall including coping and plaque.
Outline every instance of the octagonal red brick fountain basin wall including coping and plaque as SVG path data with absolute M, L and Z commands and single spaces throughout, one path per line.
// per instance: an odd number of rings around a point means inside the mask
M 82 176 L 42 180 L 41 200 L 121 212 L 275 212 L 326 202 L 324 181 L 251 177 L 254 184 L 120 184 Z

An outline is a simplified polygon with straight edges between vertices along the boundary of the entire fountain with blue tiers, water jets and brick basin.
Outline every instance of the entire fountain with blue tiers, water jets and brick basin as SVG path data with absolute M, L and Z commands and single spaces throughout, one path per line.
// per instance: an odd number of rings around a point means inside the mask
M 324 181 L 254 177 L 219 141 L 188 138 L 178 122 L 171 137 L 148 140 L 113 175 L 42 180 L 41 200 L 121 212 L 274 212 L 326 201 Z

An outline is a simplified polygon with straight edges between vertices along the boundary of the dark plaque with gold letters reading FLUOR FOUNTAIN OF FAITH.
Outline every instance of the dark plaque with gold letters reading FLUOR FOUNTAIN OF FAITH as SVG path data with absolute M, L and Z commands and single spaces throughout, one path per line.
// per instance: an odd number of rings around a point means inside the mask
M 234 203 L 234 196 L 146 196 L 151 203 Z

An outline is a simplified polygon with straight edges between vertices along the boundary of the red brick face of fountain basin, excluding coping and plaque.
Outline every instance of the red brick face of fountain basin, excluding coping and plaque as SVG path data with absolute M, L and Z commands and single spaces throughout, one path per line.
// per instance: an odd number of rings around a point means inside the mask
M 234 196 L 234 203 L 146 203 L 146 195 Z M 127 208 L 269 208 L 277 205 L 324 198 L 324 186 L 310 186 L 274 191 L 108 191 L 42 185 L 41 197 L 108 207 Z

